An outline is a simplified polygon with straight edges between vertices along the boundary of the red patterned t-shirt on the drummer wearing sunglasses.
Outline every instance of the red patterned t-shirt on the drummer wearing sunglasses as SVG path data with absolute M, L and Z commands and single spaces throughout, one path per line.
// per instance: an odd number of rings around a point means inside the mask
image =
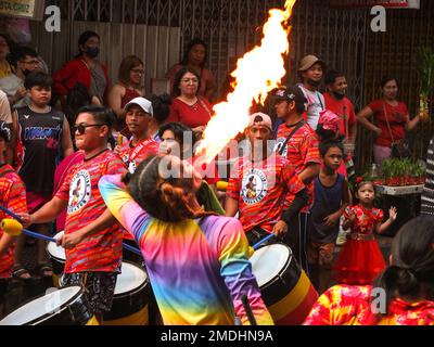
M 125 171 L 124 163 L 108 150 L 71 169 L 55 195 L 68 202 L 65 234 L 80 230 L 105 211 L 106 206 L 98 188 L 100 178 Z M 118 271 L 122 252 L 123 229 L 115 223 L 86 236 L 74 248 L 66 249 L 65 273 Z

